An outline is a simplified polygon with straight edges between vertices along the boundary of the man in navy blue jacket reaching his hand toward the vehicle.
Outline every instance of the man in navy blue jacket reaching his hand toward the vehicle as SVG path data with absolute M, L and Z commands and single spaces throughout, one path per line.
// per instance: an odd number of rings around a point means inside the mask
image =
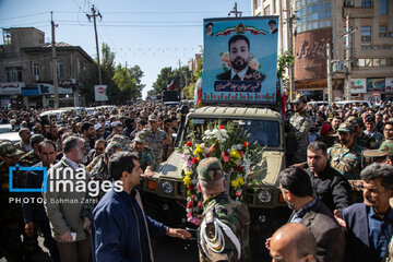
M 186 229 L 169 228 L 144 214 L 134 188 L 143 172 L 136 154 L 114 154 L 108 170 L 116 182 L 93 212 L 94 261 L 154 261 L 150 236 L 191 237 Z

